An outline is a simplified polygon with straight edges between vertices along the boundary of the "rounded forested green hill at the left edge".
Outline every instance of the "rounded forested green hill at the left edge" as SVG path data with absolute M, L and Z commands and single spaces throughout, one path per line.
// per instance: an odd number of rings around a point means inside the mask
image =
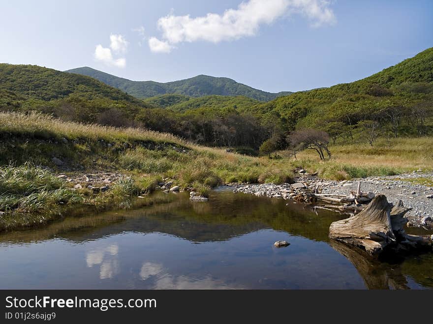
M 0 64 L 1 110 L 38 110 L 93 122 L 109 110 L 133 117 L 143 108 L 152 107 L 91 77 L 36 65 Z

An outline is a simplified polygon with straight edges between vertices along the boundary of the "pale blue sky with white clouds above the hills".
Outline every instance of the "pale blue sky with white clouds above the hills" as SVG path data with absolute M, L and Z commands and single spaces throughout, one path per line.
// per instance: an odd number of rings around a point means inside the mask
M 433 46 L 433 0 L 0 0 L 0 62 L 265 91 L 362 79 Z

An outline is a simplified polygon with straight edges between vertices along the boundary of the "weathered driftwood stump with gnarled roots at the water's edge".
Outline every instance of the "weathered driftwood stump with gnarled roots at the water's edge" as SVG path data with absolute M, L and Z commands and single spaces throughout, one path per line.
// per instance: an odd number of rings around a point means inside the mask
M 401 201 L 393 207 L 384 195 L 377 195 L 359 214 L 332 223 L 329 236 L 361 247 L 370 255 L 378 255 L 385 248 L 400 251 L 431 247 L 428 239 L 404 232 L 403 226 L 407 220 L 403 216 L 409 210 Z

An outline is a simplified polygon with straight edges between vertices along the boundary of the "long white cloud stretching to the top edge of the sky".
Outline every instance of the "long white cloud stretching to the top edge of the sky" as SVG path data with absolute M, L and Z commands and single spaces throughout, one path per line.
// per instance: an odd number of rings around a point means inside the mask
M 260 25 L 271 24 L 284 15 L 300 14 L 313 27 L 333 24 L 334 12 L 326 0 L 249 0 L 237 9 L 228 9 L 222 15 L 208 13 L 206 16 L 191 18 L 169 14 L 158 20 L 162 40 L 149 39 L 153 52 L 169 53 L 175 44 L 199 40 L 218 43 L 254 36 Z

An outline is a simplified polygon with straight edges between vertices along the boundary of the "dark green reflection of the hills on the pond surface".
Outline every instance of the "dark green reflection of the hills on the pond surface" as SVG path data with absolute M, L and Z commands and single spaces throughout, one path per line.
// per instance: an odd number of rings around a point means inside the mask
M 39 230 L 4 233 L 0 242 L 36 241 L 54 236 L 83 241 L 125 231 L 161 232 L 203 242 L 226 240 L 265 228 L 327 241 L 329 225 L 341 217 L 328 211 L 317 216 L 304 205 L 286 206 L 288 201 L 231 192 L 216 194 L 209 203 L 193 203 L 188 193 L 169 196 L 175 197 L 174 201 L 83 217 L 78 217 L 83 215 L 78 213 Z

